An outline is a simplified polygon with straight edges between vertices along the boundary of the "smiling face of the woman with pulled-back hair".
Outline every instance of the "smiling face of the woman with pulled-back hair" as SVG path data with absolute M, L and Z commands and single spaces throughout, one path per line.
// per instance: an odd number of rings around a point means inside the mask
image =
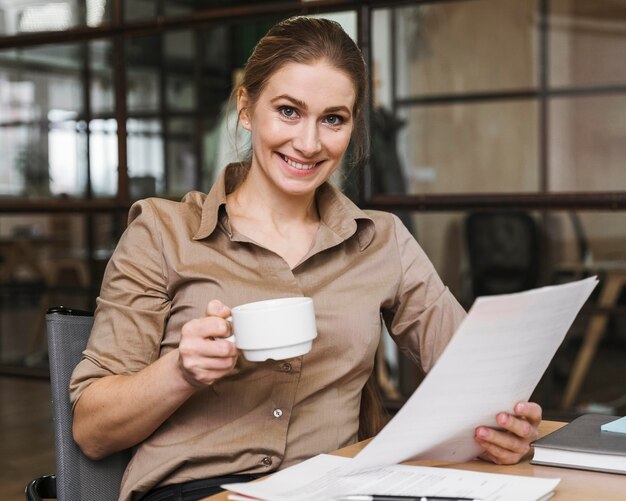
M 312 194 L 341 163 L 355 96 L 350 78 L 325 61 L 282 66 L 255 103 L 240 92 L 241 123 L 252 133 L 251 173 L 286 194 Z

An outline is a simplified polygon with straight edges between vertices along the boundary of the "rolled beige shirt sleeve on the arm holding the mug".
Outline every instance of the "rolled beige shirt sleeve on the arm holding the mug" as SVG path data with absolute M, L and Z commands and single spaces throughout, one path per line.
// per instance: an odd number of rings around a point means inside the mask
M 73 404 L 94 380 L 137 372 L 158 358 L 170 311 L 165 269 L 156 210 L 149 200 L 137 202 L 107 264 L 91 336 L 72 374 Z

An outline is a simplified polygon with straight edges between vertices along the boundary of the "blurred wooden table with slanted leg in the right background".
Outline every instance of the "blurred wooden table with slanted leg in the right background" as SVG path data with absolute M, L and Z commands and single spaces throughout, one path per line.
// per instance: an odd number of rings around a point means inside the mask
M 569 409 L 576 403 L 578 391 L 587 375 L 589 366 L 598 348 L 598 344 L 602 340 L 606 324 L 609 321 L 609 311 L 615 307 L 619 294 L 624 285 L 626 285 L 626 262 L 624 261 L 608 261 L 590 264 L 578 264 L 568 266 L 564 269 L 568 271 L 584 272 L 588 275 L 600 275 L 600 294 L 596 302 L 596 306 L 601 308 L 600 311 L 591 316 L 587 330 L 583 338 L 583 343 L 578 350 L 578 355 L 574 362 L 574 366 L 570 371 L 561 407 Z

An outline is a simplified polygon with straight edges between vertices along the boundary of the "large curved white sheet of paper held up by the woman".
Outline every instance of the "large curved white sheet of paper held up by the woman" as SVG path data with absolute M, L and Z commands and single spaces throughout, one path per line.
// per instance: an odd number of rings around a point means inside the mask
M 348 470 L 476 457 L 476 427 L 496 427 L 498 412 L 528 400 L 597 282 L 478 298 L 424 381 Z

